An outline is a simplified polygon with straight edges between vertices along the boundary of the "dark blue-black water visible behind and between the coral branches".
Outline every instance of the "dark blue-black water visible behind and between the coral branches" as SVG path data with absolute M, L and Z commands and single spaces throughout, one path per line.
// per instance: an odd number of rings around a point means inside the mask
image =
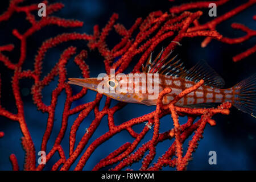
M 21 5 L 26 5 L 30 3 L 35 3 L 37 1 L 26 1 Z M 161 10 L 163 12 L 168 11 L 171 6 L 180 5 L 188 1 L 175 1 L 169 2 L 164 1 L 153 1 L 153 0 L 121 0 L 121 1 L 104 1 L 104 0 L 49 0 L 49 3 L 62 2 L 65 7 L 64 9 L 54 13 L 54 15 L 60 18 L 67 19 L 77 19 L 84 22 L 84 26 L 81 28 L 62 28 L 57 26 L 48 26 L 42 30 L 36 32 L 30 38 L 28 38 L 27 47 L 27 61 L 24 64 L 23 69 L 33 69 L 34 58 L 38 51 L 38 48 L 42 45 L 44 40 L 50 37 L 56 36 L 63 32 L 86 32 L 86 34 L 93 34 L 93 26 L 98 24 L 100 28 L 105 27 L 110 16 L 113 13 L 119 14 L 118 23 L 123 24 L 125 27 L 129 28 L 135 22 L 138 17 L 145 18 L 152 11 Z M 229 10 L 234 9 L 243 2 L 234 0 L 226 3 L 223 6 L 217 7 L 217 16 L 226 13 Z M 0 2 L 0 14 L 6 11 L 9 6 L 9 1 L 2 0 Z M 196 11 L 196 10 L 191 10 Z M 200 23 L 208 22 L 214 17 L 209 17 L 208 10 L 203 9 L 204 15 L 199 19 Z M 245 35 L 245 32 L 240 30 L 234 30 L 230 27 L 230 24 L 237 22 L 245 24 L 245 26 L 256 30 L 256 22 L 253 20 L 253 15 L 256 12 L 256 5 L 253 5 L 242 11 L 241 13 L 233 16 L 232 18 L 222 22 L 217 26 L 217 30 L 224 36 L 229 38 L 237 38 Z M 14 43 L 14 50 L 12 52 L 6 52 L 5 55 L 9 56 L 10 60 L 18 61 L 19 59 L 19 46 L 20 42 L 16 39 L 11 31 L 13 28 L 19 30 L 23 33 L 30 27 L 30 24 L 26 21 L 25 14 L 14 14 L 12 18 L 6 22 L 0 23 L 0 44 L 10 44 Z M 218 42 L 217 40 L 212 40 L 210 44 L 201 48 L 200 44 L 204 38 L 193 38 L 193 39 L 183 39 L 181 42 L 182 46 L 178 47 L 175 52 L 179 54 L 179 57 L 184 60 L 185 65 L 192 67 L 199 60 L 206 60 L 207 63 L 219 73 L 225 80 L 225 88 L 229 88 L 243 79 L 251 76 L 256 71 L 256 55 L 255 53 L 246 59 L 243 59 L 237 63 L 232 61 L 232 57 L 237 55 L 237 53 L 245 51 L 247 48 L 253 47 L 256 43 L 256 37 L 247 40 L 245 43 L 241 44 L 224 44 Z M 113 47 L 119 41 L 119 36 L 117 34 L 110 34 L 107 39 L 109 47 Z M 164 44 L 161 44 L 164 47 Z M 166 46 L 168 43 L 166 43 Z M 43 74 L 42 78 L 53 68 L 57 60 L 59 60 L 60 54 L 65 48 L 69 46 L 77 47 L 77 52 L 81 49 L 86 49 L 88 51 L 88 58 L 85 60 L 86 64 L 89 65 L 90 77 L 97 77 L 98 74 L 104 73 L 104 63 L 103 57 L 100 56 L 98 51 L 90 51 L 86 46 L 84 41 L 69 41 L 68 43 L 63 43 L 60 46 L 49 49 L 46 57 L 43 61 Z M 158 46 L 155 50 L 155 55 L 160 51 L 162 47 Z M 72 60 L 72 59 L 71 59 Z M 71 63 L 72 61 L 69 61 Z M 130 64 L 130 69 L 127 69 L 125 73 L 131 71 L 131 68 L 137 63 L 134 60 Z M 69 65 L 69 64 L 68 64 Z M 11 89 L 11 76 L 13 72 L 6 71 L 5 65 L 0 63 L 0 73 L 2 78 L 2 105 L 9 111 L 15 113 L 16 106 L 14 96 Z M 68 67 L 68 77 L 80 77 L 78 75 L 77 69 L 73 66 Z M 42 142 L 42 136 L 46 129 L 47 114 L 36 110 L 36 106 L 33 104 L 32 96 L 30 94 L 30 89 L 33 84 L 32 80 L 23 79 L 20 81 L 20 89 L 22 90 L 22 100 L 24 102 L 25 118 L 27 121 L 28 129 L 30 130 L 31 137 L 35 143 L 36 151 L 40 151 L 40 145 Z M 57 78 L 55 81 L 51 82 L 43 90 L 43 102 L 47 105 L 51 101 L 51 92 L 55 89 L 57 84 Z M 78 93 L 81 88 L 79 86 L 72 86 L 73 92 Z M 93 101 L 96 96 L 96 92 L 88 90 L 86 96 L 81 100 L 73 103 L 72 107 L 81 105 L 85 102 Z M 61 126 L 61 117 L 65 102 L 65 93 L 61 93 L 58 97 L 59 101 L 57 103 L 55 111 L 55 123 L 52 130 L 52 135 L 49 139 L 47 148 L 48 150 L 54 143 L 56 135 L 59 133 Z M 105 100 L 105 96 L 103 101 Z M 101 101 L 100 110 L 103 108 L 103 101 Z M 117 101 L 112 101 L 112 106 L 117 104 Z M 146 106 L 139 104 L 127 104 L 123 109 L 117 111 L 114 114 L 115 125 L 119 125 L 131 118 L 139 117 L 141 115 L 150 113 L 155 110 L 155 106 Z M 68 128 L 64 136 L 61 145 L 64 148 L 66 157 L 69 150 L 69 131 L 72 122 L 77 118 L 78 114 L 74 114 L 69 117 Z M 80 141 L 85 133 L 85 129 L 89 127 L 90 122 L 94 119 L 94 114 L 91 112 L 88 117 L 84 119 L 81 123 L 79 130 L 77 132 L 76 141 Z M 199 142 L 199 147 L 196 152 L 193 153 L 193 160 L 189 162 L 188 170 L 256 170 L 256 119 L 251 117 L 249 114 L 242 113 L 236 108 L 232 107 L 229 115 L 215 115 L 213 117 L 216 120 L 217 125 L 212 127 L 207 125 L 204 130 L 204 138 Z M 187 121 L 184 118 L 184 122 Z M 100 137 L 102 134 L 108 131 L 108 119 L 105 116 L 100 125 L 98 126 L 96 132 L 90 138 L 88 144 L 85 146 L 81 155 L 96 138 Z M 180 119 L 183 123 L 183 120 Z M 137 125 L 133 129 L 140 132 L 143 129 L 144 124 Z M 160 133 L 171 129 L 173 127 L 172 119 L 170 115 L 166 115 L 160 119 Z M 11 170 L 11 162 L 9 160 L 10 154 L 15 154 L 20 169 L 23 169 L 24 162 L 24 150 L 22 148 L 21 140 L 22 133 L 19 129 L 18 122 L 9 121 L 4 117 L 0 117 L 0 131 L 5 132 L 5 137 L 0 138 L 0 170 Z M 138 147 L 142 143 L 147 142 L 152 137 L 152 131 L 149 132 L 146 137 L 139 143 Z M 184 150 L 187 149 L 189 137 L 184 143 Z M 110 152 L 113 152 L 119 146 L 125 142 L 133 142 L 132 138 L 127 131 L 122 131 L 121 133 L 115 135 L 107 142 L 101 144 L 90 156 L 88 162 L 86 162 L 84 170 L 92 169 L 101 159 L 105 158 Z M 77 144 L 76 142 L 76 144 Z M 165 140 L 159 143 L 156 147 L 156 156 L 152 163 L 164 154 L 164 152 L 170 147 L 173 140 Z M 137 147 L 137 148 L 138 148 Z M 137 149 L 136 148 L 136 149 Z M 136 150 L 135 149 L 135 150 Z M 216 151 L 217 153 L 217 164 L 209 165 L 209 151 Z M 48 152 L 48 151 L 47 151 Z M 148 152 L 146 152 L 148 154 Z M 80 155 L 80 157 L 81 157 Z M 39 157 L 39 156 L 38 156 Z M 79 157 L 79 158 L 80 158 Z M 51 160 L 47 163 L 44 170 L 51 169 L 52 165 L 59 159 L 56 153 Z M 71 170 L 75 168 L 78 160 L 72 165 Z M 52 163 L 52 164 L 51 164 Z M 152 164 L 151 163 L 151 164 Z M 115 165 L 114 165 L 115 166 Z M 113 166 L 108 166 L 103 169 L 109 169 Z M 132 166 L 127 168 L 139 169 L 141 167 L 141 161 L 138 163 L 133 163 Z M 124 168 L 126 169 L 126 168 Z M 173 170 L 174 168 L 164 167 L 163 170 Z

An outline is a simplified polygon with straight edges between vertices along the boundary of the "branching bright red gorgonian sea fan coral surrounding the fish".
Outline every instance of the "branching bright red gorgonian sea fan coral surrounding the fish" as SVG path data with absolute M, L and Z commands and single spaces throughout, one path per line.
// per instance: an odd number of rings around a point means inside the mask
M 109 166 L 114 163 L 118 164 L 113 169 L 119 170 L 128 166 L 129 164 L 138 162 L 138 160 L 141 159 L 143 159 L 141 167 L 142 170 L 158 170 L 167 165 L 176 167 L 177 170 L 184 170 L 187 167 L 188 161 L 191 160 L 192 152 L 195 151 L 200 138 L 203 137 L 203 131 L 207 123 L 209 123 L 211 126 L 216 125 L 215 121 L 212 119 L 212 116 L 217 113 L 229 114 L 229 108 L 231 107 L 230 103 L 224 103 L 218 106 L 216 109 L 188 109 L 175 106 L 175 103 L 185 94 L 193 92 L 193 90 L 199 88 L 199 86 L 204 83 L 204 81 L 201 80 L 192 88 L 189 88 L 180 93 L 179 96 L 177 96 L 169 105 L 163 105 L 162 98 L 165 94 L 170 93 L 171 89 L 164 89 L 163 92 L 159 94 L 158 104 L 155 111 L 152 111 L 151 113 L 138 118 L 130 119 L 129 121 L 123 122 L 121 125 L 117 126 L 114 124 L 113 115 L 126 104 L 119 102 L 117 105 L 110 108 L 111 99 L 107 98 L 104 108 L 100 110 L 99 103 L 101 101 L 102 95 L 99 93 L 97 94 L 94 101 L 76 106 L 75 108 L 71 109 L 72 102 L 79 100 L 86 94 L 86 89 L 83 88 L 80 93 L 73 95 L 71 86 L 67 84 L 66 66 L 71 56 L 76 55 L 76 47 L 71 46 L 65 49 L 55 67 L 52 68 L 51 72 L 49 72 L 48 75 L 45 76 L 42 80 L 40 79 L 40 76 L 42 75 L 42 64 L 44 56 L 49 49 L 71 40 L 85 40 L 88 42 L 88 47 L 90 49 L 98 49 L 100 55 L 104 57 L 106 73 L 110 73 L 110 68 L 116 69 L 116 73 L 125 71 L 125 69 L 131 63 L 131 60 L 133 60 L 134 56 L 142 54 L 137 64 L 133 68 L 132 72 L 134 73 L 139 72 L 142 64 L 146 61 L 147 57 L 150 56 L 150 53 L 154 51 L 156 46 L 168 38 L 172 38 L 172 42 L 170 42 L 166 49 L 164 49 L 162 57 L 166 56 L 170 51 L 175 49 L 175 47 L 179 45 L 180 42 L 182 42 L 183 38 L 205 36 L 206 38 L 201 44 L 202 47 L 205 47 L 212 39 L 216 39 L 223 43 L 236 44 L 242 43 L 256 35 L 255 30 L 250 30 L 249 28 L 238 23 L 233 23 L 232 27 L 247 33 L 241 38 L 225 38 L 216 31 L 217 24 L 253 5 L 256 3 L 255 0 L 249 0 L 241 6 L 238 6 L 236 9 L 233 9 L 224 15 L 220 15 L 205 24 L 199 23 L 199 18 L 203 14 L 201 11 L 195 11 L 192 13 L 187 10 L 208 8 L 210 2 L 193 2 L 178 7 L 171 7 L 170 13 L 155 11 L 150 13 L 145 19 L 138 18 L 133 26 L 131 26 L 129 29 L 125 28 L 122 24 L 116 23 L 118 14 L 113 14 L 108 24 L 106 24 L 106 26 L 102 28 L 101 31 L 98 26 L 94 26 L 93 35 L 74 32 L 60 34 L 53 38 L 49 38 L 38 49 L 38 54 L 36 55 L 34 61 L 34 70 L 23 70 L 22 66 L 26 61 L 27 38 L 29 36 L 34 34 L 36 31 L 53 24 L 60 27 L 81 27 L 83 25 L 83 23 L 78 20 L 66 20 L 52 16 L 51 14 L 62 9 L 63 5 L 61 3 L 50 4 L 47 1 L 43 1 L 43 3 L 46 3 L 47 5 L 47 16 L 40 20 L 36 20 L 35 15 L 32 14 L 32 12 L 38 11 L 38 5 L 34 4 L 28 6 L 20 6 L 20 3 L 23 1 L 24 0 L 10 1 L 9 8 L 0 16 L 0 23 L 3 23 L 9 20 L 13 13 L 26 13 L 27 20 L 31 24 L 31 27 L 26 32 L 24 32 L 24 34 L 20 34 L 18 30 L 13 29 L 13 35 L 20 40 L 20 57 L 18 63 L 13 63 L 13 61 L 9 60 L 9 57 L 5 56 L 4 53 L 5 51 L 13 51 L 13 45 L 10 44 L 0 46 L 0 61 L 5 65 L 7 69 L 10 69 L 14 73 L 12 89 L 15 97 L 16 108 L 18 109 L 18 113 L 15 114 L 11 113 L 0 105 L 0 115 L 19 123 L 20 130 L 24 135 L 22 138 L 22 146 L 26 152 L 24 170 L 42 170 L 45 164 L 39 164 L 38 166 L 36 165 L 37 151 L 35 150 L 34 142 L 31 138 L 30 131 L 28 130 L 27 122 L 24 117 L 23 101 L 19 88 L 20 80 L 23 78 L 30 78 L 34 81 L 34 85 L 31 88 L 34 104 L 38 110 L 42 111 L 43 113 L 48 113 L 47 127 L 43 135 L 41 151 L 46 151 L 47 142 L 52 133 L 57 97 L 63 91 L 67 94 L 59 134 L 55 139 L 53 147 L 46 155 L 47 165 L 47 162 L 52 158 L 55 152 L 59 153 L 60 159 L 52 166 L 52 170 L 57 170 L 59 168 L 61 170 L 68 170 L 76 160 L 78 160 L 78 163 L 75 170 L 83 169 L 85 163 L 89 159 L 90 155 L 92 155 L 93 151 L 101 143 L 112 138 L 115 134 L 122 130 L 127 130 L 131 137 L 134 138 L 134 142 L 127 142 L 123 144 L 117 150 L 106 156 L 105 159 L 100 160 L 98 164 L 93 168 L 93 170 L 98 170 L 102 167 Z M 224 5 L 228 1 L 229 0 L 220 0 L 216 1 L 215 3 L 220 6 Z M 255 16 L 253 18 L 255 19 Z M 117 34 L 122 37 L 122 39 L 121 42 L 117 43 L 110 50 L 106 44 L 106 37 L 109 35 L 109 32 L 113 28 Z M 134 34 L 135 30 L 139 30 L 139 32 L 135 36 L 135 39 L 133 39 L 132 35 Z M 239 61 L 244 57 L 251 55 L 255 51 L 256 47 L 254 46 L 243 53 L 235 55 L 233 60 Z M 80 68 L 82 77 L 84 78 L 89 77 L 89 68 L 84 61 L 86 57 L 87 52 L 84 50 L 78 53 L 74 59 L 74 62 Z M 115 58 L 118 57 L 120 58 L 114 62 Z M 51 104 L 46 105 L 42 101 L 42 90 L 56 76 L 59 76 L 59 83 L 56 85 L 56 88 L 52 92 Z M 0 87 L 1 86 L 3 85 L 1 85 L 0 79 Z M 79 144 L 75 147 L 77 130 L 79 129 L 79 126 L 84 118 L 86 118 L 92 111 L 94 111 L 95 118 L 90 123 L 88 130 L 81 138 Z M 67 131 L 68 119 L 75 113 L 79 113 L 79 116 L 75 119 L 75 121 L 72 121 L 73 123 L 71 130 Z M 159 119 L 167 114 L 171 114 L 170 117 L 172 117 L 174 121 L 174 128 L 164 133 L 159 133 Z M 86 151 L 79 159 L 79 155 L 81 154 L 82 150 L 84 150 L 85 145 L 88 143 L 88 140 L 92 137 L 92 134 L 96 131 L 98 125 L 105 115 L 108 115 L 109 131 L 101 136 L 98 136 L 98 138 L 94 140 L 88 148 L 86 148 Z M 179 117 L 183 116 L 187 116 L 188 120 L 183 125 L 180 125 Z M 197 117 L 200 117 L 200 119 L 194 122 Z M 147 124 L 144 126 L 144 129 L 141 131 L 141 133 L 136 133 L 132 129 L 132 126 L 143 122 L 147 122 Z M 138 150 L 135 150 L 144 135 L 150 131 L 151 126 L 154 126 L 152 139 L 144 143 L 142 147 L 138 148 Z M 64 150 L 60 144 L 66 132 L 69 133 L 69 154 L 64 153 Z M 187 151 L 185 151 L 185 154 L 183 154 L 183 143 L 189 136 L 192 135 L 193 132 L 195 132 L 195 134 L 193 135 L 192 140 L 189 142 Z M 1 131 L 0 138 L 2 137 L 4 137 L 4 133 Z M 160 156 L 157 162 L 150 166 L 152 160 L 155 157 L 157 144 L 163 140 L 171 138 L 175 138 L 175 140 L 168 148 L 166 153 Z M 149 151 L 149 153 L 145 155 L 147 151 Z M 13 169 L 18 170 L 20 164 L 18 165 L 15 154 L 10 155 L 10 160 L 13 164 Z

